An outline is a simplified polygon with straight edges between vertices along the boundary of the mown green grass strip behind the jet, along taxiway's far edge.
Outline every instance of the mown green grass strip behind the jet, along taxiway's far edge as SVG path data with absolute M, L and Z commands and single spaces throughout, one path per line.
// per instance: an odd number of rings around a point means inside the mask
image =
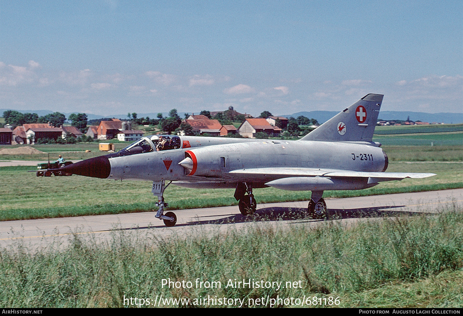
M 391 162 L 391 172 L 431 172 L 437 176 L 404 179 L 354 191 L 325 191 L 324 197 L 351 197 L 375 194 L 417 192 L 463 187 L 463 164 Z M 66 217 L 95 214 L 146 212 L 153 210 L 155 198 L 150 182 L 110 181 L 84 176 L 37 177 L 33 167 L 2 167 L 5 183 L 0 204 L 0 220 Z M 237 205 L 234 189 L 189 189 L 169 186 L 164 197 L 169 209 Z M 255 189 L 257 203 L 305 201 L 310 192 L 276 188 Z

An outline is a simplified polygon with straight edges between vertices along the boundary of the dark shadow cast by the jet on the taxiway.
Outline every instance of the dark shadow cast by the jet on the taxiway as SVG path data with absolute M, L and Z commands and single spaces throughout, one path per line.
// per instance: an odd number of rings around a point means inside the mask
M 353 218 L 369 218 L 369 217 L 397 217 L 397 216 L 415 216 L 422 214 L 421 212 L 406 212 L 406 211 L 392 211 L 386 209 L 393 209 L 405 207 L 399 206 L 382 206 L 382 207 L 364 207 L 364 208 L 351 208 L 351 209 L 328 209 L 327 219 L 353 219 Z M 198 216 L 197 220 L 185 224 L 177 224 L 179 226 L 192 226 L 192 225 L 205 225 L 205 224 L 233 224 L 244 222 L 265 222 L 265 221 L 282 221 L 282 220 L 298 220 L 298 223 L 323 221 L 324 219 L 312 219 L 307 213 L 306 208 L 299 207 L 266 207 L 256 211 L 253 215 L 243 216 L 241 214 L 228 214 L 220 215 L 226 216 L 220 219 L 206 219 L 211 217 L 218 217 L 218 215 Z M 301 221 L 302 220 L 302 221 Z M 175 229 L 175 227 L 172 227 Z M 165 228 L 164 225 L 126 228 L 123 230 L 131 229 L 148 229 L 148 228 Z

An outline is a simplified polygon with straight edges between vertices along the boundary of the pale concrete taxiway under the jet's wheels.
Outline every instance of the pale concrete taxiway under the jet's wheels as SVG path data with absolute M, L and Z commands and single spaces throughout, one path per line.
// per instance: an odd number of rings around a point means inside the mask
M 326 199 L 331 219 L 352 222 L 384 216 L 439 213 L 462 209 L 463 189 Z M 0 248 L 37 251 L 62 249 L 75 237 L 82 241 L 110 244 L 118 231 L 125 236 L 169 238 L 175 234 L 191 236 L 198 231 L 236 229 L 246 231 L 254 225 L 316 225 L 308 219 L 307 201 L 257 205 L 256 216 L 245 218 L 237 206 L 175 210 L 177 224 L 166 227 L 154 212 L 79 216 L 56 219 L 30 219 L 0 222 Z

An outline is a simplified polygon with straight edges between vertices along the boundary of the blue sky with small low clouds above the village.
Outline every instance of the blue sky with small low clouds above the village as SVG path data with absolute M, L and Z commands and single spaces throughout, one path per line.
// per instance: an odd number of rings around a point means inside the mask
M 463 112 L 462 1 L 0 2 L 0 107 Z

